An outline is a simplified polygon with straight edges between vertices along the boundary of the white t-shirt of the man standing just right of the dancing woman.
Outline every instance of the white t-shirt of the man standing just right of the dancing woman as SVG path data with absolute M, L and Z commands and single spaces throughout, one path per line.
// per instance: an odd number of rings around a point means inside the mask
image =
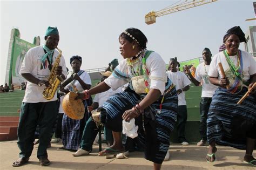
M 168 78 L 171 79 L 172 83 L 176 86 L 176 90 L 183 89 L 187 85 L 191 84 L 190 79 L 188 79 L 186 74 L 184 74 L 183 72 L 167 71 L 166 73 Z M 186 105 L 185 92 L 178 94 L 178 105 L 179 106 Z

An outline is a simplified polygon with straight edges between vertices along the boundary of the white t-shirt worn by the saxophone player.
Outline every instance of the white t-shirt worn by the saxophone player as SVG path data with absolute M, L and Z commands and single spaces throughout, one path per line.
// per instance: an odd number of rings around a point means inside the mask
M 41 62 L 41 58 L 45 55 L 43 46 L 36 46 L 31 48 L 25 55 L 23 60 L 21 70 L 19 73 L 31 73 L 34 77 L 40 80 L 47 80 L 50 76 L 50 70 L 48 68 L 48 60 L 46 59 L 44 63 Z M 53 61 L 55 62 L 56 57 L 59 55 L 59 52 L 55 49 L 53 52 Z M 64 57 L 60 58 L 59 65 L 62 66 L 62 73 L 66 75 L 66 64 Z M 47 100 L 43 97 L 43 91 L 45 86 L 38 86 L 28 81 L 26 85 L 25 96 L 22 102 L 26 103 L 38 103 L 38 102 L 48 102 L 57 100 L 57 94 L 51 100 Z

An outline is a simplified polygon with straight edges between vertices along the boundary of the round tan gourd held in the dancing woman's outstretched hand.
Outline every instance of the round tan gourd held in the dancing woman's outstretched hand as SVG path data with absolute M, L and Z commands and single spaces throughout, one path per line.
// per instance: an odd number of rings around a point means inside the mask
M 69 92 L 62 101 L 63 111 L 71 119 L 79 120 L 84 118 L 84 104 L 82 99 L 75 100 L 78 95 L 75 92 Z

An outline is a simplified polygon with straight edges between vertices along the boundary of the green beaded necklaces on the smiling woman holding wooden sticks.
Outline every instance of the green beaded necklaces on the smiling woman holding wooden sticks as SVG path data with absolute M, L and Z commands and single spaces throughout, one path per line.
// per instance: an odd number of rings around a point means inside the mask
M 233 77 L 231 80 L 234 80 L 234 83 L 233 83 L 232 87 L 230 87 L 230 89 L 227 90 L 227 92 L 230 92 L 232 94 L 238 94 L 242 90 L 242 85 L 243 85 L 241 51 L 239 50 L 237 52 L 237 66 L 235 66 L 235 64 L 232 62 L 230 56 L 228 56 L 227 50 L 224 50 L 223 53 L 226 57 L 228 65 L 230 66 L 230 69 L 233 70 Z M 241 80 L 239 80 L 238 77 L 241 77 Z M 240 81 L 241 81 L 241 83 L 240 83 Z M 241 84 L 241 86 L 239 86 L 239 84 Z M 240 87 L 240 91 L 235 93 L 239 87 Z

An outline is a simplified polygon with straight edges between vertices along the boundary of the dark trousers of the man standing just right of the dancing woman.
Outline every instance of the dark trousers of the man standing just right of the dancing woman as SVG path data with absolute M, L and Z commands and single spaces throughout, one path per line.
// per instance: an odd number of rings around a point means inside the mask
M 186 138 L 185 138 L 185 126 L 187 122 L 187 106 L 186 105 L 178 106 L 177 121 L 178 121 L 178 126 L 177 126 L 178 140 L 181 143 L 186 141 Z

